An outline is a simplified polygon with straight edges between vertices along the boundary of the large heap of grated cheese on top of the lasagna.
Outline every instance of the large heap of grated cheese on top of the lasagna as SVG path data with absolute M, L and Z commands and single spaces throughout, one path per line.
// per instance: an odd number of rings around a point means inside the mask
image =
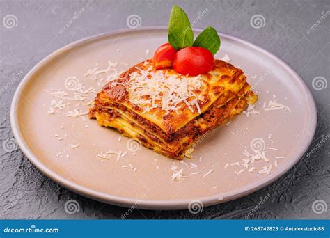
M 162 70 L 153 71 L 152 68 L 141 70 L 129 74 L 130 80 L 123 83 L 129 91 L 129 100 L 146 111 L 151 109 L 162 109 L 166 113 L 178 111 L 184 106 L 188 107 L 193 113 L 201 108 L 196 91 L 201 91 L 205 83 L 200 75 L 189 77 L 180 75 L 171 75 Z M 113 82 L 113 85 L 119 84 Z

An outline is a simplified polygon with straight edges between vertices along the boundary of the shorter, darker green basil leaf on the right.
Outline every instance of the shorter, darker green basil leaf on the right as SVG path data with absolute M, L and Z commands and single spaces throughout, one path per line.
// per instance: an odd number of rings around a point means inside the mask
M 220 38 L 217 30 L 212 26 L 207 26 L 207 28 L 202 31 L 194 41 L 195 47 L 203 47 L 216 54 L 220 48 Z

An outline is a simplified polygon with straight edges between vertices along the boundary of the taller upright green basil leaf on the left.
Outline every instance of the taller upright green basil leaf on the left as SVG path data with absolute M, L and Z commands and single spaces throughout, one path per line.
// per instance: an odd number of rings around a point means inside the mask
M 168 42 L 175 49 L 191 47 L 194 42 L 194 33 L 189 19 L 179 6 L 174 5 L 168 22 Z

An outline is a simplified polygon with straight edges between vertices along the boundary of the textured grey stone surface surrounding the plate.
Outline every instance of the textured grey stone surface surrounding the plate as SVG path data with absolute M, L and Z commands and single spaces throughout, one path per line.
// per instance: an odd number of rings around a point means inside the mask
M 127 219 L 326 219 L 330 207 L 330 1 L 0 1 L 0 139 L 5 145 L 13 137 L 10 103 L 24 75 L 42 58 L 68 43 L 107 31 L 127 28 L 126 19 L 136 14 L 141 26 L 167 25 L 173 3 L 191 19 L 208 9 L 195 25 L 209 24 L 219 31 L 263 47 L 286 61 L 311 89 L 317 104 L 317 132 L 306 154 L 287 174 L 265 189 L 203 212 L 146 211 L 134 209 Z M 83 14 L 59 34 L 63 26 Z M 251 27 L 250 19 L 260 14 L 265 26 Z M 5 22 L 15 15 L 14 24 Z M 322 15 L 325 16 L 322 18 Z M 322 19 L 322 21 L 320 21 Z M 2 21 L 3 20 L 3 21 Z M 319 22 L 317 22 L 319 21 Z M 17 26 L 16 24 L 17 23 Z M 311 26 L 315 24 L 315 29 Z M 13 27 L 12 27 L 13 26 Z M 12 28 L 10 28 L 12 27 Z M 315 79 L 315 77 L 319 77 Z M 323 78 L 320 78 L 323 77 Z M 313 79 L 319 84 L 313 87 Z M 323 83 L 323 84 L 320 84 Z M 329 85 L 326 85 L 329 83 Z M 318 87 L 318 88 L 317 88 Z M 316 89 L 319 90 L 316 90 Z M 322 142 L 322 136 L 325 142 Z M 324 140 L 323 140 L 324 141 Z M 8 150 L 7 150 L 8 151 Z M 34 168 L 17 149 L 0 148 L 0 218 L 4 219 L 120 219 L 126 208 L 99 203 L 68 191 Z M 270 198 L 260 205 L 260 198 Z M 79 212 L 68 214 L 65 202 L 74 199 Z M 323 200 L 321 214 L 313 212 L 315 200 Z M 317 202 L 318 203 L 318 202 Z M 259 206 L 260 205 L 260 206 Z M 322 206 L 321 203 L 319 205 Z M 319 208 L 322 208 L 319 206 Z

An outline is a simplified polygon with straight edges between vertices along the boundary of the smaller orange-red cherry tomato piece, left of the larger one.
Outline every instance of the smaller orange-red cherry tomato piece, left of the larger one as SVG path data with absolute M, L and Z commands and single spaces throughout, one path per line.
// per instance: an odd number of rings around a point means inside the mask
M 155 69 L 169 68 L 173 66 L 176 51 L 170 43 L 165 43 L 156 49 L 152 59 Z

